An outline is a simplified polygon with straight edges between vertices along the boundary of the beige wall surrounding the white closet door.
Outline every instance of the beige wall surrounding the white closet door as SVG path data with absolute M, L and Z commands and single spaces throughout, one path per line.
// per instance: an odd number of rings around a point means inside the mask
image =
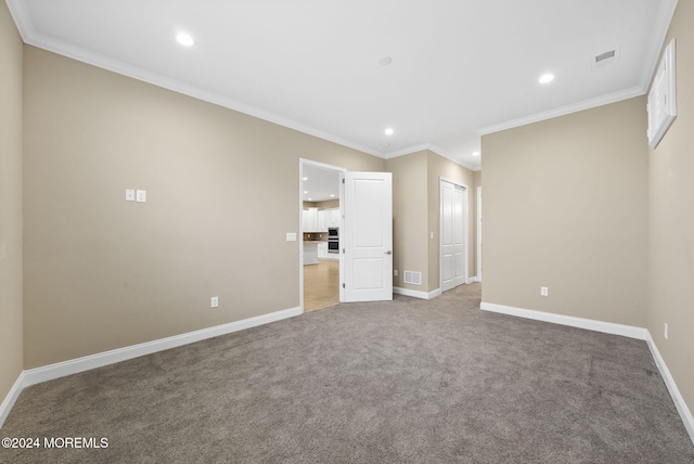
M 427 197 L 428 197 L 428 231 L 434 232 L 434 239 L 428 240 L 429 255 L 429 291 L 440 288 L 440 210 L 439 210 L 439 178 L 467 188 L 467 211 L 468 211 L 468 233 L 467 233 L 467 275 L 475 275 L 475 242 L 474 242 L 474 210 L 475 192 L 474 172 L 464 168 L 448 158 L 434 152 L 427 152 Z

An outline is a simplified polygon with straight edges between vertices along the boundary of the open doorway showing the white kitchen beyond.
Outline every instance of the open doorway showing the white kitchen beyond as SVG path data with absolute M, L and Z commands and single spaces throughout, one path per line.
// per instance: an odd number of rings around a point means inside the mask
M 299 160 L 300 305 L 305 312 L 339 302 L 344 168 Z

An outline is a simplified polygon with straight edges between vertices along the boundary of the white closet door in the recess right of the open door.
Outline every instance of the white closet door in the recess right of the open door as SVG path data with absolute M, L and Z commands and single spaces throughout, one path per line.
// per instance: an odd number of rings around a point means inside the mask
M 441 179 L 441 292 L 466 282 L 467 190 Z

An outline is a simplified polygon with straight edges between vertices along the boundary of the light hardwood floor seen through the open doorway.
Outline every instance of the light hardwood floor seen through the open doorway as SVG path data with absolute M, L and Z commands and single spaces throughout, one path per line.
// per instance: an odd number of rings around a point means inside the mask
M 304 267 L 304 311 L 339 302 L 339 261 L 318 260 Z

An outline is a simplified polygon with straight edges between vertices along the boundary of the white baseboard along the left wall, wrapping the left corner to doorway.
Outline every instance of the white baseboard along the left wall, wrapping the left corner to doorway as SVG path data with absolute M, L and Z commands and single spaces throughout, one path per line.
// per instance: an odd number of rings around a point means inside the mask
M 129 359 L 139 358 L 141 356 L 152 355 L 157 351 L 177 348 L 207 338 L 231 334 L 233 332 L 243 331 L 245 328 L 269 324 L 270 322 L 293 318 L 301 313 L 303 311 L 299 307 L 284 309 L 281 311 L 271 312 L 269 314 L 262 314 L 255 318 L 230 322 L 228 324 L 202 328 L 194 332 L 188 332 L 185 334 L 175 335 L 167 338 L 160 338 L 158 340 L 146 341 L 139 345 L 132 345 L 125 348 L 104 351 L 97 355 L 86 356 L 83 358 L 77 358 L 69 361 L 44 365 L 42 368 L 29 369 L 28 371 L 24 371 L 22 372 L 22 374 L 20 374 L 20 377 L 14 383 L 12 389 L 0 405 L 0 427 L 2 427 L 4 420 L 7 418 L 8 414 L 10 414 L 10 410 L 14 405 L 14 402 L 16 401 L 22 390 L 28 386 L 40 384 L 41 382 L 52 381 L 59 377 L 64 377 L 66 375 L 77 374 L 79 372 L 89 371 L 91 369 L 101 368 L 116 362 L 127 361 Z

